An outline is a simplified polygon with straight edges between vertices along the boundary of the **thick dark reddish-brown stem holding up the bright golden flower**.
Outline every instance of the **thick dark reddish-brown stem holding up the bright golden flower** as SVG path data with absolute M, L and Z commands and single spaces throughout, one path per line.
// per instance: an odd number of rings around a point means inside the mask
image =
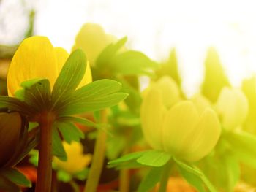
M 50 192 L 52 177 L 52 131 L 55 116 L 44 112 L 39 117 L 40 143 L 36 192 Z

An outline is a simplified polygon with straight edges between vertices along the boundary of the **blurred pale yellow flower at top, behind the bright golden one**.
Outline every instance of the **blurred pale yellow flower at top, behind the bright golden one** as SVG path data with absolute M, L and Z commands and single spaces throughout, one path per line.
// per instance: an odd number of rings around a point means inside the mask
M 116 42 L 116 37 L 105 34 L 101 26 L 94 23 L 86 23 L 78 32 L 72 50 L 82 49 L 86 53 L 91 66 L 94 66 L 99 53 L 112 42 Z

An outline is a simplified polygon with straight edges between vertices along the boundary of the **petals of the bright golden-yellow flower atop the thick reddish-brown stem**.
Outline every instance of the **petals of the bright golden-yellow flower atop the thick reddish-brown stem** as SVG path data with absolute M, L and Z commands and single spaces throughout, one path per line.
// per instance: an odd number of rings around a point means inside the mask
M 24 39 L 12 58 L 7 74 L 7 87 L 10 96 L 20 89 L 20 83 L 35 78 L 47 78 L 53 88 L 61 68 L 69 54 L 60 47 L 53 47 L 47 37 Z M 86 74 L 79 86 L 91 82 L 91 70 L 87 65 Z

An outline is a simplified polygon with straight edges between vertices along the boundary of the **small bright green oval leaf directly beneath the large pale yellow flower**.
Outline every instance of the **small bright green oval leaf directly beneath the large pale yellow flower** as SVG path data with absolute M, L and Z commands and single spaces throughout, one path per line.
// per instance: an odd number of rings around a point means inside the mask
M 137 159 L 137 162 L 145 166 L 164 166 L 170 158 L 171 155 L 164 151 L 148 150 Z

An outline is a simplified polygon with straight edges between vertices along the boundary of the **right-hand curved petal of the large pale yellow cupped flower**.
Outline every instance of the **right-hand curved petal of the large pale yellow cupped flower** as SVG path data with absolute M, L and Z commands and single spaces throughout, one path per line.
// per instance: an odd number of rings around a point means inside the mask
M 198 161 L 208 155 L 217 144 L 221 126 L 216 113 L 210 108 L 200 116 L 189 137 L 184 141 L 182 158 L 186 161 Z

